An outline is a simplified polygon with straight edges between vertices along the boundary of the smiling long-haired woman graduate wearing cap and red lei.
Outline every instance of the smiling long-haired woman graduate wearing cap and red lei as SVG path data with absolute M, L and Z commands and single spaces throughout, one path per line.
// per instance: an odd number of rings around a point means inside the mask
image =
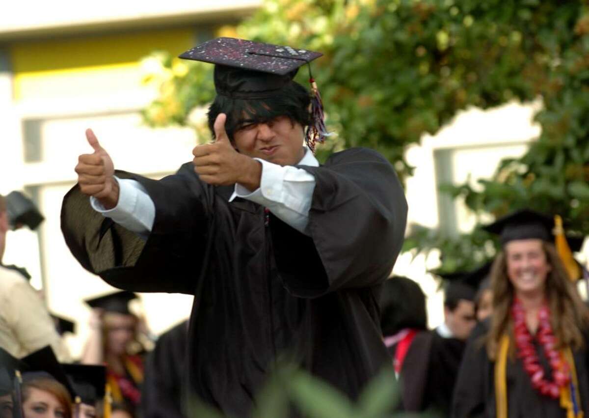
M 554 226 L 519 210 L 487 227 L 502 244 L 491 270 L 494 313 L 466 348 L 453 417 L 588 416 L 587 309 L 555 249 Z

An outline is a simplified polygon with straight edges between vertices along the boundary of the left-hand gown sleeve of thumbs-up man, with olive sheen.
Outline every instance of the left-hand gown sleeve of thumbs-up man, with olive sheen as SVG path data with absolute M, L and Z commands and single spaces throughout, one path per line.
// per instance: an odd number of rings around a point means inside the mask
M 151 180 L 133 173 L 155 205 L 147 240 L 91 208 L 78 185 L 65 195 L 61 229 L 72 255 L 114 287 L 135 292 L 193 294 L 210 233 L 214 190 L 198 180 L 191 164 L 175 175 Z

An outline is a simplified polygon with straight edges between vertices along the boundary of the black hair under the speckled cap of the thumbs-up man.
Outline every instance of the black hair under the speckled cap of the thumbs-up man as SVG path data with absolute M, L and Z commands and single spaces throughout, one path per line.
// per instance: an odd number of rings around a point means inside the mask
M 305 128 L 311 123 L 309 91 L 291 81 L 284 85 L 280 94 L 267 98 L 230 98 L 217 94 L 209 107 L 209 129 L 215 136 L 214 123 L 220 113 L 227 115 L 225 130 L 233 141 L 233 134 L 249 124 L 266 123 L 279 116 L 286 116 L 290 121 Z

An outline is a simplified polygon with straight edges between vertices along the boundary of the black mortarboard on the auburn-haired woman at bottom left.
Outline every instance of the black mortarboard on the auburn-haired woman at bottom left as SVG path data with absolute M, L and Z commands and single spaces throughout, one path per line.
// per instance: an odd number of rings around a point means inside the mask
M 70 393 L 72 400 L 75 399 L 74 388 L 71 386 L 65 375 L 64 368 L 59 364 L 49 345 L 29 354 L 27 357 L 21 358 L 21 363 L 23 383 L 36 377 L 50 377 L 61 383 Z

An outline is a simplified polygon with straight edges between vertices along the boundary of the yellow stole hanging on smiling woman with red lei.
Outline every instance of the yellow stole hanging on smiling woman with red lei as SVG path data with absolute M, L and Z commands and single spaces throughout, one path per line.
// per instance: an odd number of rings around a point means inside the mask
M 499 351 L 495 360 L 495 406 L 497 407 L 497 418 L 508 418 L 507 416 L 507 355 L 509 352 L 509 335 L 503 334 L 499 341 Z M 583 418 L 581 410 L 581 397 L 579 396 L 579 384 L 577 381 L 577 369 L 570 347 L 564 348 L 561 355 L 571 368 L 571 382 L 575 389 L 575 400 L 577 400 L 578 412 L 575 414 L 571 385 L 560 388 L 560 406 L 567 411 L 567 418 Z

